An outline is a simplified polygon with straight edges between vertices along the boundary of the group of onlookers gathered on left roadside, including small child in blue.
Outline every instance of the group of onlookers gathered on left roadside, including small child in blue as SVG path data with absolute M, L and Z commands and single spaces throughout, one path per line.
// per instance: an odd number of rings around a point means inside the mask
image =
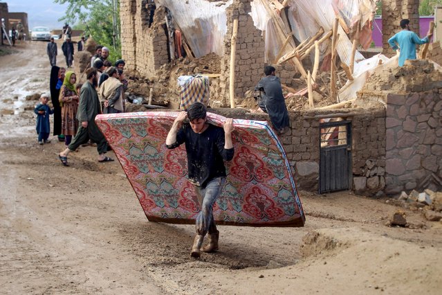
M 109 48 L 96 46 L 91 59 L 91 67 L 86 69 L 86 82 L 77 83 L 77 75 L 64 67 L 56 66 L 57 45 L 51 39 L 47 46 L 52 69 L 50 71 L 50 96 L 42 94 L 37 114 L 37 134 L 39 144 L 49 143 L 49 115 L 54 114 L 53 134 L 59 141 L 64 141 L 66 149 L 59 154 L 64 166 L 69 166 L 69 152 L 77 150 L 80 145 L 95 143 L 98 149 L 98 161 L 107 162 L 113 159 L 104 156 L 110 148 L 103 134 L 95 124 L 97 114 L 115 114 L 125 111 L 125 91 L 127 80 L 123 74 L 124 60 L 117 60 L 112 66 L 109 60 Z M 64 44 L 68 44 L 68 53 L 73 52 L 69 35 Z M 62 46 L 63 48 L 63 46 Z M 84 37 L 77 48 L 83 50 Z M 64 50 L 65 51 L 65 50 Z M 65 54 L 66 56 L 66 54 Z M 72 65 L 72 58 L 66 56 L 66 65 Z M 47 105 L 48 99 L 53 102 L 53 109 Z

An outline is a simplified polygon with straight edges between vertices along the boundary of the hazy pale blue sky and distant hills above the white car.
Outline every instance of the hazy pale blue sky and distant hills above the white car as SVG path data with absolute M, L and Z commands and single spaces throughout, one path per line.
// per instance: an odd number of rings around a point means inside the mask
M 47 26 L 62 29 L 64 22 L 58 21 L 64 16 L 67 4 L 60 5 L 53 0 L 3 0 L 8 3 L 9 12 L 28 13 L 29 29 L 34 26 Z

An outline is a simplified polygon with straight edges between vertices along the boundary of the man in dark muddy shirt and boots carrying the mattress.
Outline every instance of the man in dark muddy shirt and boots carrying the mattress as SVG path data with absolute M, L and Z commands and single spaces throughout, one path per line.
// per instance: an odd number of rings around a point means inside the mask
M 190 255 L 198 258 L 201 250 L 218 250 L 219 231 L 213 219 L 213 205 L 225 184 L 224 162 L 233 158 L 232 143 L 233 120 L 225 120 L 223 128 L 207 123 L 206 108 L 201 102 L 195 102 L 176 117 L 167 134 L 166 147 L 174 149 L 185 143 L 187 167 L 190 182 L 201 205 L 196 217 L 196 236 Z M 184 123 L 185 118 L 190 123 Z M 203 239 L 209 233 L 209 243 L 201 249 Z

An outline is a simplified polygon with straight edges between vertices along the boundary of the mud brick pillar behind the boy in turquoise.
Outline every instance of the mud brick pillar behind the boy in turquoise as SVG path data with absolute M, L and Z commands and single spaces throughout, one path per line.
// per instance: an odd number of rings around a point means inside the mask
M 387 56 L 394 55 L 388 39 L 402 30 L 400 19 L 409 19 L 410 29 L 419 32 L 419 0 L 382 1 L 383 54 Z

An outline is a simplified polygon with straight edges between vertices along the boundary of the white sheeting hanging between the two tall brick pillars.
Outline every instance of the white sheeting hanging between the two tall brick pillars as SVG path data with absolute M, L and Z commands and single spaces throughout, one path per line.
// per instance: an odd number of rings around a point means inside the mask
M 172 12 L 195 57 L 212 52 L 223 55 L 223 41 L 227 33 L 225 8 L 232 4 L 232 0 L 221 6 L 204 0 L 156 0 L 156 3 Z

